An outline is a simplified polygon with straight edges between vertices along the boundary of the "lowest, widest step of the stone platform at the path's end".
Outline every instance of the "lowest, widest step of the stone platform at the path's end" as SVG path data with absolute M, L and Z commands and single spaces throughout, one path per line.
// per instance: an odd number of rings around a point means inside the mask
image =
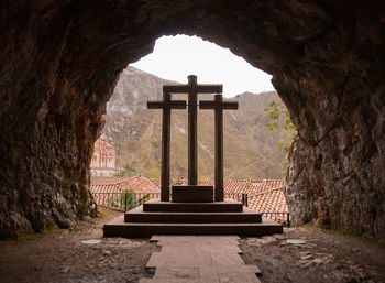
M 262 217 L 261 224 L 166 224 L 124 222 L 124 216 L 103 226 L 105 237 L 151 237 L 153 235 L 239 235 L 282 233 L 283 226 Z

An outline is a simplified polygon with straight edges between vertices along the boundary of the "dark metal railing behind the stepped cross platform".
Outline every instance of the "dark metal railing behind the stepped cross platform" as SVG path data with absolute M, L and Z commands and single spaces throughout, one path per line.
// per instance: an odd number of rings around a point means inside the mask
M 131 192 L 98 192 L 92 193 L 94 199 L 98 205 L 109 206 L 112 208 L 131 210 L 150 199 L 160 199 L 161 193 L 131 193 Z M 224 193 L 226 199 L 233 199 L 249 206 L 248 194 L 242 193 Z M 290 227 L 290 214 L 284 211 L 262 211 L 265 217 L 275 220 L 282 225 Z

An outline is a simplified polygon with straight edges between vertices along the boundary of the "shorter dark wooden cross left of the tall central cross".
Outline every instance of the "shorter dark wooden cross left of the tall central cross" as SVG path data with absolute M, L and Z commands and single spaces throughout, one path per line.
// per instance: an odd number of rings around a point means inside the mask
M 172 109 L 186 109 L 185 100 L 172 100 L 172 95 L 163 87 L 163 101 L 148 101 L 148 109 L 163 109 L 162 117 L 162 175 L 161 200 L 169 202 L 169 159 Z

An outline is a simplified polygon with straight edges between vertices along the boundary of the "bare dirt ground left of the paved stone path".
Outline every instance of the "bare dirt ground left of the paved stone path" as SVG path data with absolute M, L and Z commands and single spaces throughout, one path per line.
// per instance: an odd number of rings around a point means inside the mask
M 122 213 L 79 221 L 72 230 L 50 231 L 21 241 L 0 241 L 0 282 L 139 282 L 157 251 L 150 239 L 102 238 L 102 224 Z M 82 243 L 96 239 L 100 243 Z

